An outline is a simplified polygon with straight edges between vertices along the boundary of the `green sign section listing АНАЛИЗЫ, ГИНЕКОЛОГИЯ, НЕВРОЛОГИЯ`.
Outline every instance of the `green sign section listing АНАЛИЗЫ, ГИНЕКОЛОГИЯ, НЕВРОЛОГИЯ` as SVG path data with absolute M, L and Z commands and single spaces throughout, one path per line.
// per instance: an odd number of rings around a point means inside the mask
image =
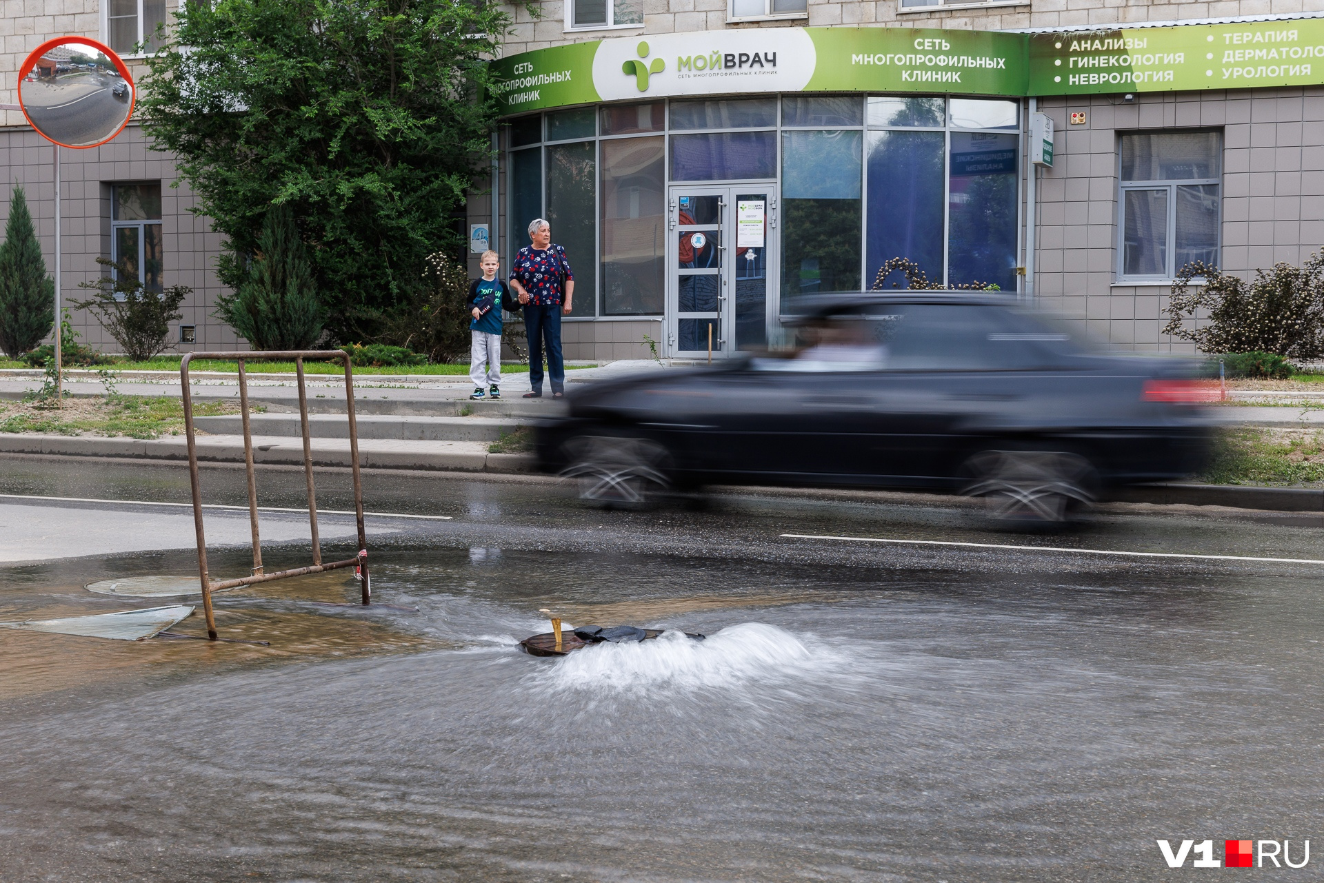
M 1030 94 L 1324 83 L 1324 20 L 1034 34 Z

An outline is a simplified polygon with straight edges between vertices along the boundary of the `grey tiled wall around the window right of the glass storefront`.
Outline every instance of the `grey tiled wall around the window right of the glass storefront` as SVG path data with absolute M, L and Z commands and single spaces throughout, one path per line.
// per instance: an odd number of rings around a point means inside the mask
M 1190 352 L 1160 332 L 1166 285 L 1115 285 L 1117 132 L 1223 132 L 1222 265 L 1250 278 L 1324 248 L 1324 87 L 1043 99 L 1057 132 L 1038 184 L 1035 294 L 1136 349 Z M 1068 124 L 1084 111 L 1083 126 Z

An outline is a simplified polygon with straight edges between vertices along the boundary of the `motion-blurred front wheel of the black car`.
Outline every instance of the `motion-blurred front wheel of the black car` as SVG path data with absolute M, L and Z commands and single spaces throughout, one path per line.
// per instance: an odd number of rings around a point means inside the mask
M 650 438 L 630 434 L 576 436 L 565 442 L 561 478 L 581 500 L 636 508 L 671 487 L 671 457 Z

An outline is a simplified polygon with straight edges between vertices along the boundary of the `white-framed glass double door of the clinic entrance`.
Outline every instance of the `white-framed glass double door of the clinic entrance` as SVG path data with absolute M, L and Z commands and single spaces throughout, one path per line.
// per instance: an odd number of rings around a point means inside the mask
M 674 356 L 720 357 L 767 346 L 769 199 L 767 191 L 745 189 L 671 191 L 667 338 Z

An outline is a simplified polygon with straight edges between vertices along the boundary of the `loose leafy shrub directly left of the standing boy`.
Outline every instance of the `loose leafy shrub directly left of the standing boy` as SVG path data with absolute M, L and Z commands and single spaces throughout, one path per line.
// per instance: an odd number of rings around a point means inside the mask
M 467 359 L 470 348 L 469 274 L 441 252 L 428 257 L 428 290 L 381 318 L 381 343 L 422 352 L 429 361 Z

